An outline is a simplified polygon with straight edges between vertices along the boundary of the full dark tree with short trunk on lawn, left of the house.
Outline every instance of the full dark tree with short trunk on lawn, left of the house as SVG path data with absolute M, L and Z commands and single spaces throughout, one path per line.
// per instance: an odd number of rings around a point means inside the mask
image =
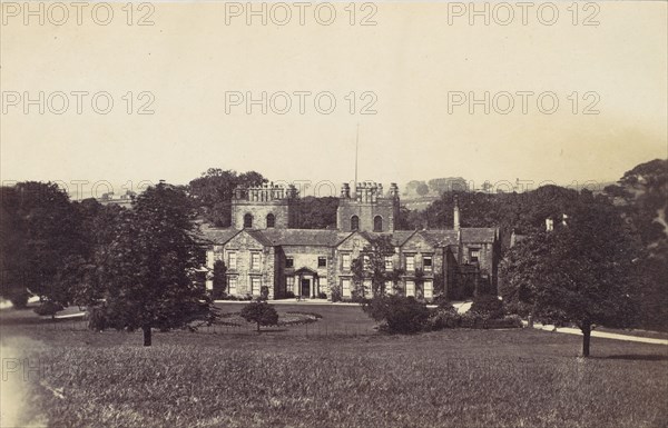
M 99 267 L 106 287 L 97 327 L 140 328 L 144 346 L 150 346 L 153 328 L 213 321 L 213 302 L 195 278 L 204 265 L 204 246 L 195 238 L 194 220 L 186 193 L 166 183 L 149 187 L 132 210 L 122 212 Z

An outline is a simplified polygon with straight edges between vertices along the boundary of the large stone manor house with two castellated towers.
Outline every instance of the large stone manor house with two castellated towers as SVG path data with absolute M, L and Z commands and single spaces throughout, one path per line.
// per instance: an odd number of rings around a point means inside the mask
M 207 228 L 212 243 L 207 268 L 216 260 L 226 266 L 226 292 L 259 296 L 267 287 L 269 299 L 302 296 L 344 300 L 355 283 L 352 265 L 374 239 L 386 237 L 394 255 L 385 257 L 389 271 L 401 277 L 385 289 L 424 300 L 436 290 L 464 281 L 497 287 L 499 231 L 497 228 L 462 228 L 455 203 L 452 229 L 396 230 L 399 188 L 385 192 L 375 182 L 343 185 L 336 212 L 336 229 L 299 229 L 299 195 L 294 187 L 271 183 L 238 188 L 232 200 L 232 227 Z M 210 275 L 207 288 L 213 289 Z

